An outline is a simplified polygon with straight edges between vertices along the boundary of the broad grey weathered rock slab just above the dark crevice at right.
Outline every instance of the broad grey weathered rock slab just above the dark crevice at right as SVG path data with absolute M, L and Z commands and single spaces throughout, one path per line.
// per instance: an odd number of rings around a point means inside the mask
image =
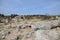
M 57 25 L 60 25 L 59 20 L 54 20 L 54 21 L 41 21 L 41 22 L 36 22 L 32 25 L 32 29 L 35 30 L 36 28 L 42 29 L 42 30 L 49 30 L 52 27 L 56 27 Z

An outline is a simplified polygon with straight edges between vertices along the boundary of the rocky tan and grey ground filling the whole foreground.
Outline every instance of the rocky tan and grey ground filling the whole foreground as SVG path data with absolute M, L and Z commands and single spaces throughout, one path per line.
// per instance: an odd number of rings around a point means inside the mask
M 0 40 L 60 40 L 60 20 L 0 23 Z

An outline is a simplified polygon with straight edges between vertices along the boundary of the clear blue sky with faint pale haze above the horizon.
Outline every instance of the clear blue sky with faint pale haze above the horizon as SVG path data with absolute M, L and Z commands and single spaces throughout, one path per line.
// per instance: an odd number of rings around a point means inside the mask
M 60 15 L 60 0 L 0 0 L 0 13 Z

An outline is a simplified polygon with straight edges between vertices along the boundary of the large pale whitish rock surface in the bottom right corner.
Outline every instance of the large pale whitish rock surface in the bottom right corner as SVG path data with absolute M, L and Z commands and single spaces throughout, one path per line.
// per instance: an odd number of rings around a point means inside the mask
M 36 40 L 60 40 L 60 34 L 53 30 L 38 30 L 35 34 Z

